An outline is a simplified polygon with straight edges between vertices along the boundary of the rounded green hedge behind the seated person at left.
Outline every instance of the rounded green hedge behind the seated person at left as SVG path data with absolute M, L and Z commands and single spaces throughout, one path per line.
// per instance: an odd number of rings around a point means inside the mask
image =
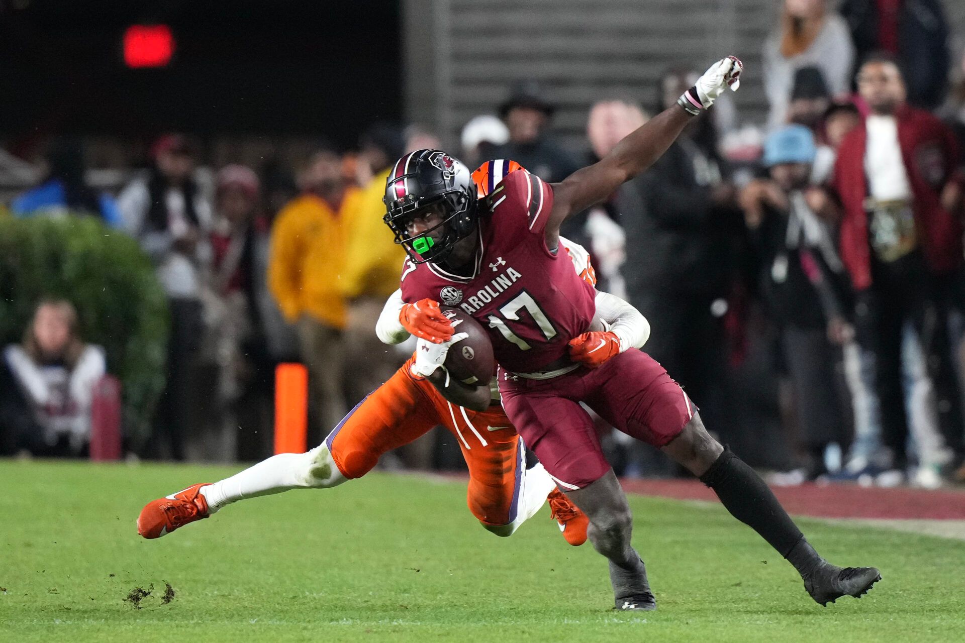
M 14 219 L 0 212 L 0 343 L 20 341 L 43 297 L 69 300 L 85 341 L 100 344 L 124 386 L 124 433 L 150 435 L 164 388 L 168 308 L 137 242 L 88 216 Z

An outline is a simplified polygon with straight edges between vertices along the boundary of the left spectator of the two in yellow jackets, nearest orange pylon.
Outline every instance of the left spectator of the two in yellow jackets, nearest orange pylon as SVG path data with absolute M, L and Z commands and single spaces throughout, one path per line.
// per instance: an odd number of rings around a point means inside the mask
M 309 369 L 314 418 L 321 427 L 345 415 L 343 389 L 345 219 L 358 190 L 346 188 L 335 152 L 317 151 L 299 176 L 302 194 L 279 213 L 271 229 L 268 287 L 296 324 L 301 360 Z

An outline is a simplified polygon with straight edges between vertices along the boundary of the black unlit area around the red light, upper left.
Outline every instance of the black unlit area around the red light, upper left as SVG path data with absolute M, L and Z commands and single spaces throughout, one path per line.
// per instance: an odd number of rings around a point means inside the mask
M 125 67 L 124 30 L 167 24 L 168 67 Z M 400 119 L 398 0 L 0 0 L 0 138 L 164 131 L 324 136 Z

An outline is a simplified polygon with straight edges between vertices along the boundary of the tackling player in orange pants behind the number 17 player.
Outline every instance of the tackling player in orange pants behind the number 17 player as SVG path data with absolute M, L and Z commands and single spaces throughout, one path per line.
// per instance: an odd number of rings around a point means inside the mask
M 491 188 L 493 180 L 498 183 L 516 169 L 520 168 L 510 163 L 484 164 L 478 171 L 480 193 L 485 194 L 486 185 Z M 563 245 L 575 274 L 594 285 L 586 250 L 565 239 Z M 643 315 L 613 295 L 597 293 L 596 297 L 602 322 L 633 345 L 643 345 L 649 335 Z M 397 292 L 379 317 L 376 333 L 387 343 L 399 343 L 409 336 L 399 322 L 401 307 Z M 523 443 L 499 406 L 498 391 L 447 381 L 440 366 L 449 347 L 459 339 L 460 335 L 455 335 L 438 344 L 420 339 L 421 348 L 428 350 L 417 350 L 388 382 L 346 415 L 322 444 L 307 453 L 276 455 L 225 480 L 196 484 L 153 500 L 138 518 L 138 532 L 145 538 L 158 538 L 242 498 L 295 488 L 335 487 L 365 475 L 385 452 L 444 424 L 462 450 L 470 473 L 469 508 L 485 529 L 509 536 L 548 500 L 551 517 L 559 523 L 565 540 L 582 545 L 587 538 L 586 516 L 556 489 L 541 465 L 525 469 Z M 588 363 L 595 360 L 593 355 L 574 357 Z

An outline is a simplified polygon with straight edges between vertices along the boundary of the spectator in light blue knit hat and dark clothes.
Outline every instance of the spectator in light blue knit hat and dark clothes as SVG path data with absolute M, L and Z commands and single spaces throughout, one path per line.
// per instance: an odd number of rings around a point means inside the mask
M 852 335 L 846 322 L 841 258 L 824 216 L 833 211 L 810 182 L 815 155 L 811 130 L 787 125 L 764 142 L 769 178 L 741 194 L 744 219 L 758 258 L 758 285 L 780 331 L 780 362 L 794 396 L 803 465 L 777 482 L 804 482 L 826 473 L 824 451 L 846 435 L 836 386 L 840 345 Z

